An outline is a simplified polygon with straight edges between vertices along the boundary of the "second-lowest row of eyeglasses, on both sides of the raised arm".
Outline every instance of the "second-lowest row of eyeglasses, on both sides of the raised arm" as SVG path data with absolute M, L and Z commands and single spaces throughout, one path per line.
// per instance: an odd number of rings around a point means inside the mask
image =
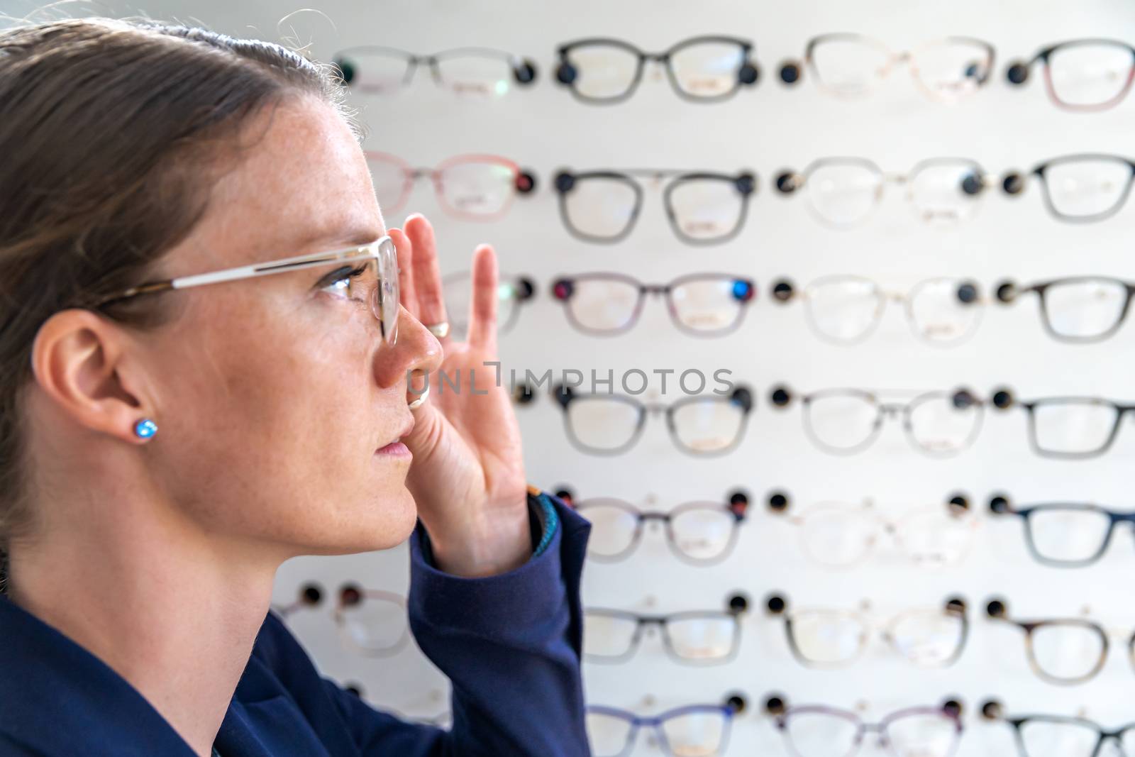
M 388 657 L 405 648 L 410 633 L 405 597 L 379 589 L 344 584 L 334 608 L 343 645 L 355 654 Z M 316 582 L 300 587 L 294 602 L 274 606 L 285 620 L 300 611 L 318 608 L 323 589 Z M 801 665 L 841 668 L 860 659 L 876 637 L 899 657 L 927 668 L 948 667 L 961 656 L 969 638 L 966 603 L 950 597 L 939 606 L 913 607 L 878 615 L 868 602 L 858 607 L 790 608 L 781 594 L 767 597 L 766 612 L 783 621 L 788 647 Z M 716 665 L 732 661 L 740 648 L 741 620 L 749 609 L 743 594 L 726 598 L 722 608 L 666 614 L 642 614 L 607 607 L 585 607 L 583 659 L 625 663 L 642 640 L 661 639 L 676 663 Z M 1090 616 L 1014 619 L 1006 600 L 986 604 L 990 620 L 1023 632 L 1032 671 L 1057 684 L 1084 683 L 1107 662 L 1111 640 L 1118 639 L 1135 664 L 1135 633 L 1102 625 Z

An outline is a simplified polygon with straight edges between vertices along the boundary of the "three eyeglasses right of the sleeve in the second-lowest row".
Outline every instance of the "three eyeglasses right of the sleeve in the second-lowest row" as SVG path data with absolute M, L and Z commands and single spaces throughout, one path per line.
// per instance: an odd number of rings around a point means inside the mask
M 966 600 L 949 597 L 939 605 L 878 613 L 868 600 L 858 606 L 790 607 L 787 596 L 765 599 L 766 615 L 782 622 L 792 657 L 801 665 L 838 670 L 852 666 L 878 644 L 878 651 L 923 668 L 950 667 L 961 657 L 970 637 Z M 666 656 L 683 665 L 724 665 L 740 649 L 743 594 L 730 596 L 722 608 L 644 614 L 608 607 L 583 608 L 583 659 L 620 664 L 632 659 L 645 638 L 658 637 Z M 1007 603 L 986 600 L 985 616 L 1020 632 L 1032 672 L 1059 684 L 1086 683 L 1104 667 L 1115 640 L 1135 666 L 1135 631 L 1111 628 L 1091 617 L 1012 617 Z

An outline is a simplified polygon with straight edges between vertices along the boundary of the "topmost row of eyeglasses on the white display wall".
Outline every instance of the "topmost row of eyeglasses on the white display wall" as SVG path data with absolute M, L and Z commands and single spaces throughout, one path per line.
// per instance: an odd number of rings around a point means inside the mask
M 785 85 L 807 72 L 817 89 L 840 99 L 869 95 L 899 66 L 907 65 L 917 89 L 931 100 L 956 102 L 986 85 L 995 60 L 993 45 L 968 36 L 948 36 L 913 50 L 894 50 L 863 34 L 822 34 L 808 40 L 801 59 L 780 64 Z M 419 68 L 457 95 L 496 99 L 515 86 L 531 86 L 538 67 L 531 58 L 487 48 L 459 48 L 419 54 L 382 45 L 337 52 L 333 62 L 353 92 L 388 95 L 413 82 Z M 751 40 L 704 35 L 649 51 L 616 39 L 581 39 L 556 49 L 555 81 L 586 103 L 624 102 L 638 90 L 648 65 L 658 65 L 674 92 L 689 102 L 721 102 L 760 78 Z M 1004 72 L 1012 85 L 1042 66 L 1054 104 L 1087 112 L 1118 104 L 1135 76 L 1135 48 L 1119 40 L 1079 39 L 1050 44 Z

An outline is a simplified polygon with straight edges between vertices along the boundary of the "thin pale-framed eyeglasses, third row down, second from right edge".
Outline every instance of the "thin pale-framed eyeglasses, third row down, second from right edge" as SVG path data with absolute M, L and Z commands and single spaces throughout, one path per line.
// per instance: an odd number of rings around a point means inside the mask
M 889 292 L 861 276 L 825 276 L 804 289 L 781 279 L 773 285 L 772 295 L 776 302 L 802 300 L 816 336 L 846 345 L 874 334 L 890 303 L 902 304 L 916 337 L 942 347 L 973 336 L 985 310 L 977 283 L 953 277 L 925 279 L 908 292 Z

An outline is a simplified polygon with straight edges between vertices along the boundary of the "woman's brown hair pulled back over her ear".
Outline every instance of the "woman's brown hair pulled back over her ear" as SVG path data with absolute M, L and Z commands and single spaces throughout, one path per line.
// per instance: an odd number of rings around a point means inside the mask
M 153 275 L 204 215 L 209 167 L 261 108 L 309 94 L 346 117 L 333 72 L 149 20 L 0 31 L 0 591 L 6 547 L 33 523 L 20 397 L 40 326 Z M 162 301 L 102 312 L 144 328 L 168 318 Z

